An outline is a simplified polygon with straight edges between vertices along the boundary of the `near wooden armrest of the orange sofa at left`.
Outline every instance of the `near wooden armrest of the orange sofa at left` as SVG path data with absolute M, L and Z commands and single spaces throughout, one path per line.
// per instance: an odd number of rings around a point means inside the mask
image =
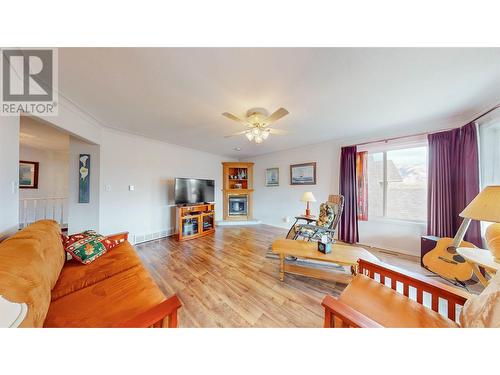
M 120 328 L 177 328 L 177 310 L 182 306 L 177 295 L 119 324 Z

